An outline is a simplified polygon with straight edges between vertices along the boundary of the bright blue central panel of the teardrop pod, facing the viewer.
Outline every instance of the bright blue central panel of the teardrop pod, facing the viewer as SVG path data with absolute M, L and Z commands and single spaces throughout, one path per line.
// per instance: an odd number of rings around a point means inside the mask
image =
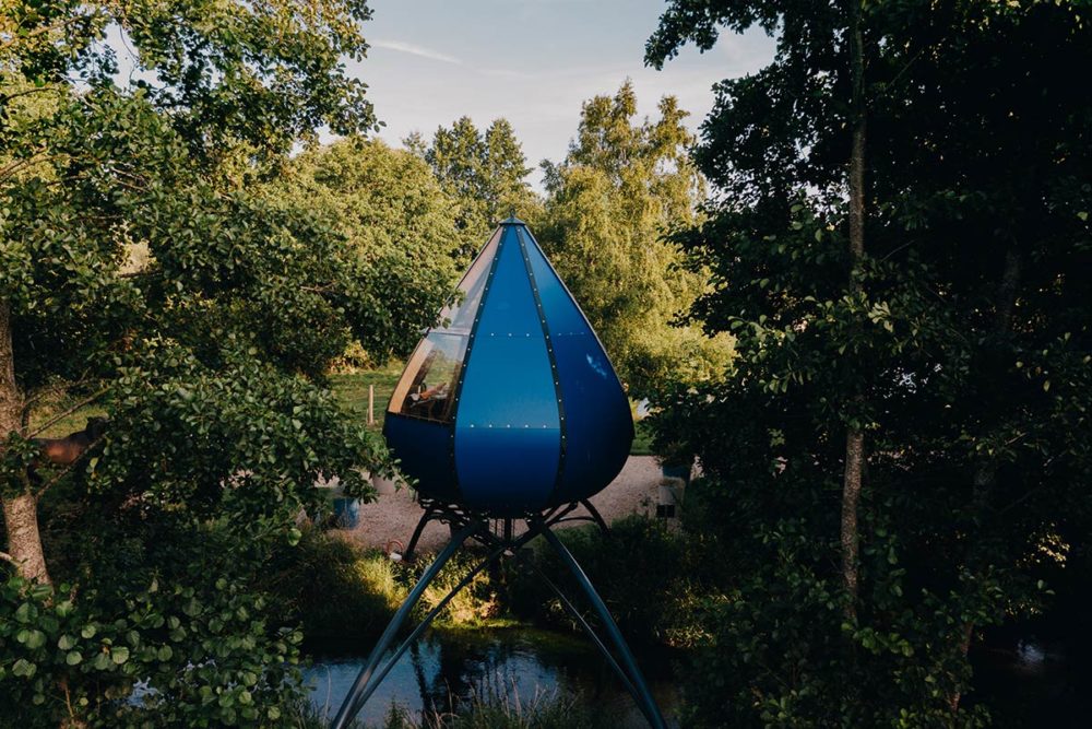
M 505 226 L 497 256 L 464 365 L 455 470 L 466 505 L 517 514 L 550 501 L 561 430 L 517 226 Z

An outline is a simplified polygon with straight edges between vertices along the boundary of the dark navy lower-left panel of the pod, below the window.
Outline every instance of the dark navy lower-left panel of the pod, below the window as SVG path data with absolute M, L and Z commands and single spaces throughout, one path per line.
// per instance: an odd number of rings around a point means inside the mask
M 459 489 L 451 459 L 451 425 L 387 413 L 383 435 L 406 475 L 431 498 L 458 503 Z

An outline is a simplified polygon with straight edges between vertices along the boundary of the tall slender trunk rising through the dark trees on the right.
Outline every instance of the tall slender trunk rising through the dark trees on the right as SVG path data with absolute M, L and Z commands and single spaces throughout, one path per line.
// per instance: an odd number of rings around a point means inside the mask
M 862 28 L 862 0 L 850 0 L 850 74 L 853 85 L 851 105 L 852 144 L 850 150 L 850 259 L 853 274 L 865 256 L 865 54 Z M 851 289 L 857 289 L 856 275 Z M 857 396 L 856 403 L 860 403 Z M 854 408 L 858 410 L 859 408 Z M 857 413 L 854 413 L 856 416 Z M 865 434 L 852 425 L 845 435 L 845 474 L 842 482 L 842 586 L 848 600 L 846 618 L 857 616 L 857 504 L 865 461 Z

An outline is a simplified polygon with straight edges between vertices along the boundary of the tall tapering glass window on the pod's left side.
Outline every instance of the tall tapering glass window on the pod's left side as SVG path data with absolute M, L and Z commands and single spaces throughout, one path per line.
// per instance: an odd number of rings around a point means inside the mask
M 499 239 L 498 231 L 459 282 L 459 295 L 440 313 L 440 322 L 417 344 L 394 388 L 388 412 L 451 422 L 454 388 Z

